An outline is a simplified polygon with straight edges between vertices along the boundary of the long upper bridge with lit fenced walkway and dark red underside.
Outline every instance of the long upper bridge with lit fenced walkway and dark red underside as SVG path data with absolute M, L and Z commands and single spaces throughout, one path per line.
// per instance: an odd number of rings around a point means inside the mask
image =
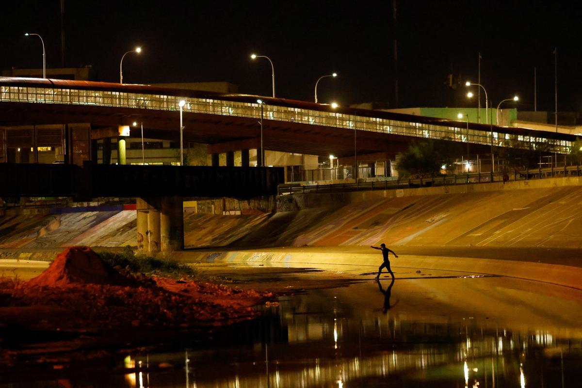
M 136 120 L 144 123 L 147 138 L 177 140 L 181 100 L 185 102 L 184 141 L 207 143 L 213 155 L 260 149 L 261 128 L 257 121 L 261 115 L 264 149 L 343 158 L 382 152 L 395 155 L 418 138 L 469 143 L 483 153 L 491 145 L 531 149 L 540 144 L 549 152 L 569 153 L 576 140 L 573 135 L 524 128 L 490 127 L 349 107 L 333 109 L 329 105 L 280 98 L 261 99 L 262 113 L 257 96 L 251 95 L 0 77 L 0 128 L 5 128 L 5 133 L 0 133 L 3 149 L 0 161 L 6 160 L 7 144 L 16 142 L 15 137 L 22 140 L 24 136 L 35 145 L 42 143 L 34 130 L 30 134 L 9 135 L 6 128 L 16 125 L 90 123 L 88 134 L 72 128 L 63 135 L 70 139 L 68 152 L 79 154 L 77 159 L 71 159 L 77 164 L 91 159 L 91 141 L 118 136 L 118 125 L 130 125 Z M 218 164 L 218 158 L 212 160 Z

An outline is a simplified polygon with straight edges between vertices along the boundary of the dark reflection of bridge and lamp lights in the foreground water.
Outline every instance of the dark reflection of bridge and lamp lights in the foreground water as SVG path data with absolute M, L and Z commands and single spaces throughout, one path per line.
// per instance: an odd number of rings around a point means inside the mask
M 384 289 L 378 282 L 382 312 L 357 310 L 325 293 L 303 294 L 278 307 L 262 308 L 264 314 L 256 321 L 215 333 L 210 344 L 184 342 L 188 349 L 179 352 L 136 353 L 119 361 L 122 370 L 131 373 L 104 381 L 72 379 L 71 386 L 358 388 L 391 383 L 525 388 L 527 382 L 531 388 L 560 386 L 562 379 L 573 382 L 562 386 L 579 382 L 580 339 L 498 329 L 471 317 L 446 323 L 431 323 L 430 317 L 410 319 L 400 305 L 391 308 L 392 290 L 399 289 L 393 285 L 394 281 Z M 375 285 L 365 286 L 379 299 Z M 373 302 L 377 306 L 380 301 Z M 33 386 L 39 385 L 9 387 Z M 6 387 L 0 382 L 0 388 Z

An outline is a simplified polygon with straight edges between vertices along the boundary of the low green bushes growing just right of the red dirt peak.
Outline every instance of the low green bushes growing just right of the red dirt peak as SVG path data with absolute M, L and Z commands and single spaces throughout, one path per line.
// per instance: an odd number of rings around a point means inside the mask
M 194 268 L 187 264 L 173 260 L 162 260 L 144 254 L 136 255 L 129 247 L 126 247 L 123 252 L 101 251 L 97 252 L 97 254 L 112 267 L 119 265 L 119 267 L 134 273 L 161 275 L 171 278 L 196 275 Z

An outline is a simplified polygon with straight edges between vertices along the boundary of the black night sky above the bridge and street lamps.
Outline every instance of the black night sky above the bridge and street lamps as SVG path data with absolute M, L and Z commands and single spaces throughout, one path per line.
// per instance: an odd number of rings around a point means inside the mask
M 572 5 L 571 5 L 572 4 Z M 229 81 L 240 92 L 271 94 L 267 60 L 275 64 L 278 97 L 342 105 L 394 103 L 393 35 L 398 34 L 400 106 L 467 104 L 464 86 L 445 86 L 451 71 L 481 81 L 491 100 L 519 94 L 533 110 L 553 110 L 553 48 L 558 46 L 560 110 L 581 110 L 582 13 L 575 2 L 398 1 L 398 26 L 388 1 L 72 1 L 65 0 L 66 65 L 93 65 L 97 80 L 132 83 Z M 59 67 L 60 2 L 13 1 L 0 9 L 0 67 Z M 452 70 L 451 70 L 452 69 Z

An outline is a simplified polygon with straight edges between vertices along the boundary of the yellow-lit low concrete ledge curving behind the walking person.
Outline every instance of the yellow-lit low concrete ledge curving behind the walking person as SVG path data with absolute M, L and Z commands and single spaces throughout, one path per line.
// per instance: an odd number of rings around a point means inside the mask
M 322 268 L 329 265 L 360 265 L 376 270 L 381 264 L 378 254 L 363 253 L 312 253 L 279 251 L 232 251 L 177 252 L 176 259 L 184 262 L 205 261 L 209 263 L 270 263 L 303 264 L 305 267 Z M 568 265 L 532 263 L 530 261 L 496 260 L 488 258 L 442 257 L 442 256 L 399 256 L 391 260 L 392 268 L 419 268 L 471 272 L 477 274 L 509 276 L 512 278 L 551 283 L 575 289 L 582 289 L 582 268 Z

